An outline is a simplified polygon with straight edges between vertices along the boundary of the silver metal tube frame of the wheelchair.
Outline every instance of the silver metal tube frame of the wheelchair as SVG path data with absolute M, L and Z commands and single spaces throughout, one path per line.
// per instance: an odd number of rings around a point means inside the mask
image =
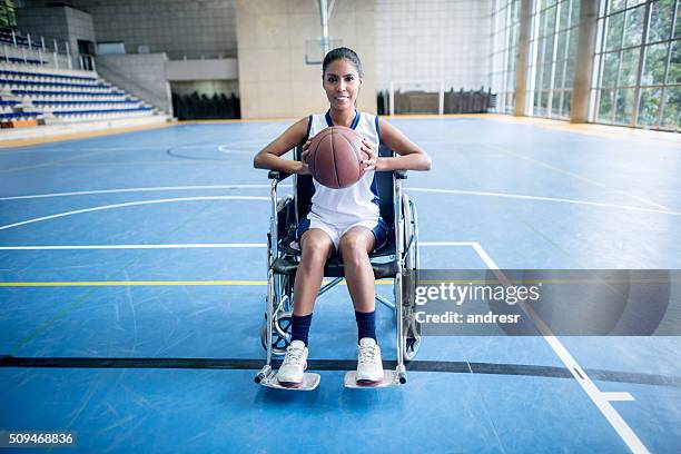
M 302 146 L 294 149 L 294 159 L 298 159 Z M 381 147 L 379 156 L 393 156 L 393 151 L 386 147 Z M 299 221 L 298 214 L 298 185 L 297 175 L 293 175 L 294 179 L 294 196 L 289 195 L 286 198 L 277 198 L 277 186 L 280 181 L 288 178 L 290 174 L 272 170 L 269 171 L 270 186 L 270 219 L 269 234 L 267 240 L 267 298 L 266 314 L 264 326 L 260 329 L 261 340 L 267 352 L 266 364 L 256 374 L 255 382 L 268 386 L 276 381 L 276 372 L 273 371 L 273 355 L 282 355 L 285 353 L 287 342 L 286 329 L 290 327 L 290 317 L 293 315 L 293 282 L 294 278 L 289 275 L 275 273 L 273 265 L 275 261 L 285 256 L 279 250 L 279 216 L 283 213 L 285 217 L 290 217 L 290 204 L 294 207 L 293 220 L 297 226 Z M 414 358 L 421 345 L 421 334 L 418 325 L 415 320 L 414 309 L 414 279 L 407 279 L 407 274 L 415 275 L 418 270 L 418 220 L 416 208 L 406 194 L 402 191 L 402 180 L 407 178 L 405 170 L 396 170 L 392 172 L 393 181 L 393 229 L 395 236 L 395 250 L 388 255 L 391 270 L 394 276 L 384 276 L 378 278 L 393 278 L 393 294 L 395 304 L 389 299 L 376 294 L 376 299 L 389 307 L 395 313 L 396 320 L 396 348 L 397 348 L 397 366 L 392 378 L 394 383 L 387 385 L 406 384 L 407 375 L 405 361 Z M 283 211 L 287 210 L 287 211 Z M 292 219 L 287 219 L 292 220 Z M 288 226 L 289 227 L 289 226 Z M 290 256 L 288 256 L 292 258 Z M 369 255 L 371 258 L 371 255 Z M 376 258 L 376 257 L 374 257 Z M 299 258 L 298 258 L 299 261 Z M 381 264 L 372 260 L 372 267 Z M 296 267 L 297 269 L 297 267 Z M 376 272 L 376 268 L 374 268 Z M 326 277 L 326 274 L 325 274 Z M 339 284 L 344 277 L 335 277 L 330 282 L 323 284 L 317 295 L 320 296 L 330 288 Z M 409 288 L 411 287 L 411 288 Z M 288 323 L 288 325 L 286 324 Z M 284 340 L 283 348 L 273 345 L 274 332 L 277 330 L 277 346 L 279 340 Z M 275 351 L 276 348 L 276 351 Z M 317 377 L 318 379 L 318 377 Z M 347 377 L 346 377 L 347 385 Z M 314 385 L 316 386 L 316 384 Z M 314 387 L 313 386 L 313 387 Z

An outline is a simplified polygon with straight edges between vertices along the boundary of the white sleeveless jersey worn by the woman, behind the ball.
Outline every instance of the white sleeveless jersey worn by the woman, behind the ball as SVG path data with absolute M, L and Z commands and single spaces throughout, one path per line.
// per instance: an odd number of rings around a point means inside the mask
M 329 112 L 310 115 L 307 137 L 312 138 L 325 128 L 334 126 Z M 379 131 L 378 117 L 359 112 L 351 126 L 373 145 L 378 154 Z M 330 189 L 313 178 L 315 193 L 312 197 L 310 211 L 328 221 L 348 223 L 353 220 L 376 220 L 379 217 L 378 188 L 375 171 L 366 171 L 356 184 L 342 189 Z

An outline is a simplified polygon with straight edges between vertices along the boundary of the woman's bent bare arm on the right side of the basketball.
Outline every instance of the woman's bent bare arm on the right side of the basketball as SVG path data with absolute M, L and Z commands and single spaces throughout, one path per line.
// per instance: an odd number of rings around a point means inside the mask
M 433 161 L 416 144 L 411 141 L 389 122 L 378 118 L 381 141 L 395 151 L 397 157 L 379 157 L 376 161 L 377 171 L 386 170 L 431 170 Z

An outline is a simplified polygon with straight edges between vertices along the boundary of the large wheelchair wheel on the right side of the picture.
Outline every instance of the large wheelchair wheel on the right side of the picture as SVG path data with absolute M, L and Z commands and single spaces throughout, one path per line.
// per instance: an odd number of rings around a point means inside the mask
M 416 221 L 416 208 L 406 194 L 402 196 L 402 213 L 404 217 L 404 272 L 412 276 L 412 280 L 418 269 L 418 227 Z M 405 361 L 413 359 L 421 347 L 421 332 L 414 315 L 414 292 L 408 283 L 402 279 L 402 304 L 403 308 L 403 334 Z

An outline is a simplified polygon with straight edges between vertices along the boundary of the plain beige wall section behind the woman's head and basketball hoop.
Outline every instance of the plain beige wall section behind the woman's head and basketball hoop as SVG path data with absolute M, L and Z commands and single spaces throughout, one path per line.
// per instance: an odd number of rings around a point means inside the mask
M 322 65 L 305 65 L 305 39 L 320 34 L 315 0 L 237 0 L 243 118 L 303 117 L 328 109 Z M 329 34 L 353 48 L 364 67 L 361 110 L 376 111 L 374 0 L 338 0 Z

